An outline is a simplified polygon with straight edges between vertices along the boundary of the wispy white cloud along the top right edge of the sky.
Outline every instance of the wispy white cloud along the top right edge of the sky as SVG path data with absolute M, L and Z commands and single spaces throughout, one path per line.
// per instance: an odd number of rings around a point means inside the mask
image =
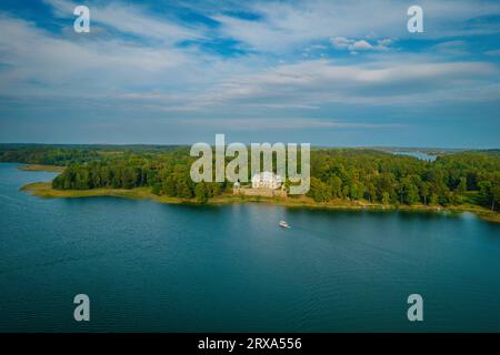
M 426 19 L 426 32 L 419 38 L 500 32 L 498 24 L 482 19 L 500 14 L 498 1 L 422 0 L 419 4 L 424 10 Z M 361 41 L 367 34 L 380 39 L 376 45 L 382 48 L 390 44 L 384 39 L 410 38 L 411 33 L 407 30 L 408 7 L 407 2 L 397 0 L 257 1 L 247 3 L 247 10 L 260 14 L 259 20 L 219 13 L 212 18 L 220 22 L 222 36 L 263 52 L 292 51 L 297 47 L 330 38 Z M 366 43 L 358 45 L 368 47 Z

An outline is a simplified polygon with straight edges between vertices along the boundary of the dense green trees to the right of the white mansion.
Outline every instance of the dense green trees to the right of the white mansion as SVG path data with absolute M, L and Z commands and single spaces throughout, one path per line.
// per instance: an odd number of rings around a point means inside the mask
M 427 162 L 361 150 L 311 154 L 311 189 L 317 202 L 336 199 L 382 204 L 500 203 L 500 156 L 479 152 L 442 155 Z M 477 192 L 477 193 L 471 193 Z

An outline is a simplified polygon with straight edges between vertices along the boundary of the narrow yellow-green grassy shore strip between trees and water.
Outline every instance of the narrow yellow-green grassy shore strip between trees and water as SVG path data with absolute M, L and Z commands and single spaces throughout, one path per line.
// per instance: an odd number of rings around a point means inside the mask
M 92 190 L 54 190 L 50 182 L 36 182 L 22 186 L 20 190 L 28 191 L 29 193 L 46 199 L 54 197 L 91 197 L 91 196 L 117 196 L 126 199 L 138 200 L 152 200 L 160 203 L 171 204 L 200 204 L 194 200 L 186 200 L 179 197 L 159 196 L 151 192 L 149 187 L 137 187 L 131 190 L 124 189 L 92 189 Z M 263 196 L 244 196 L 233 194 L 222 194 L 220 196 L 210 199 L 208 204 L 222 205 L 229 203 L 270 203 L 287 207 L 308 207 L 308 209 L 328 209 L 328 210 L 378 210 L 378 211 L 422 211 L 422 212 L 472 212 L 479 215 L 481 219 L 500 223 L 500 214 L 491 212 L 473 204 L 462 204 L 453 206 L 430 206 L 423 204 L 414 205 L 382 205 L 378 203 L 369 203 L 367 201 L 350 202 L 343 200 L 337 200 L 331 202 L 318 203 L 307 196 L 291 196 L 291 197 L 263 197 Z

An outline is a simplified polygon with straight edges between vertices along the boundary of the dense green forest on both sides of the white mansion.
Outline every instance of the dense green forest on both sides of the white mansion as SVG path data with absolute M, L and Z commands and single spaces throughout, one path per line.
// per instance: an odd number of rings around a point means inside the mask
M 193 183 L 189 146 L 174 145 L 0 145 L 0 162 L 66 166 L 58 190 L 148 186 L 154 194 L 196 199 L 230 192 L 232 184 Z M 443 153 L 433 162 L 374 149 L 313 149 L 311 189 L 316 202 L 379 204 L 477 204 L 498 211 L 500 152 Z

